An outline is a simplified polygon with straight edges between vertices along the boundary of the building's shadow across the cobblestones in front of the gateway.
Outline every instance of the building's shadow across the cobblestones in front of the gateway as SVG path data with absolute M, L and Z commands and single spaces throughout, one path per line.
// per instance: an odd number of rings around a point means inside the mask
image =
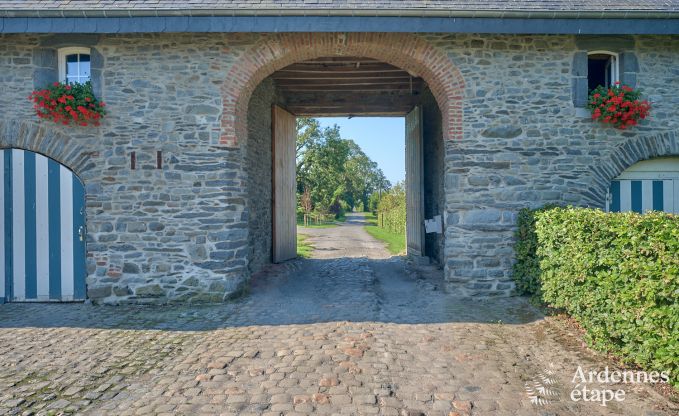
M 322 322 L 522 324 L 541 319 L 523 298 L 459 299 L 440 273 L 409 270 L 403 259 L 298 260 L 255 276 L 241 299 L 208 305 L 0 305 L 0 328 L 81 327 L 213 330 Z

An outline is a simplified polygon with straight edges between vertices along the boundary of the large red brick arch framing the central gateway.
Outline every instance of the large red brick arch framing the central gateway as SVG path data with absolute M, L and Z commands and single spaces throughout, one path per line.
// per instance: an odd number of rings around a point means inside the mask
M 267 36 L 246 50 L 222 87 L 220 144 L 247 137 L 247 109 L 257 85 L 275 71 L 323 56 L 379 59 L 423 78 L 439 105 L 444 140 L 462 138 L 464 80 L 441 50 L 421 37 L 401 33 L 309 33 Z

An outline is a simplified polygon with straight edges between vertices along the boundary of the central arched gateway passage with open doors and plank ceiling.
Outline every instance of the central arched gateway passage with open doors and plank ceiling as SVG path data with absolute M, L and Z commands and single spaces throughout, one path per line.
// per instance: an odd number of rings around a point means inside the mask
M 271 109 L 273 107 L 273 110 Z M 406 231 L 411 258 L 443 264 L 443 229 L 424 221 L 444 217 L 442 111 L 428 83 L 374 58 L 327 56 L 274 71 L 255 88 L 245 149 L 250 264 L 295 256 L 295 118 L 390 116 L 405 121 Z M 379 132 L 376 132 L 379 134 Z M 392 145 L 392 144 L 390 144 Z

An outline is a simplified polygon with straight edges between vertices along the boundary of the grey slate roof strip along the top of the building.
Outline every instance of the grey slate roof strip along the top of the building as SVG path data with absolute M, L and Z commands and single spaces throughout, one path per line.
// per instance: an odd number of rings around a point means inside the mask
M 376 14 L 397 11 L 440 12 L 679 12 L 679 0 L 0 0 L 5 15 L 13 12 L 64 14 L 82 11 L 153 11 L 181 14 L 182 11 L 253 12 L 327 10 L 351 13 L 375 10 Z

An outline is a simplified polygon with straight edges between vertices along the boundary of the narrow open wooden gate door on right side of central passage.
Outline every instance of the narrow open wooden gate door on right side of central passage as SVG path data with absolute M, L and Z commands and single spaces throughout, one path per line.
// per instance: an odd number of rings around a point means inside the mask
M 408 256 L 424 255 L 422 108 L 406 116 L 406 243 Z

